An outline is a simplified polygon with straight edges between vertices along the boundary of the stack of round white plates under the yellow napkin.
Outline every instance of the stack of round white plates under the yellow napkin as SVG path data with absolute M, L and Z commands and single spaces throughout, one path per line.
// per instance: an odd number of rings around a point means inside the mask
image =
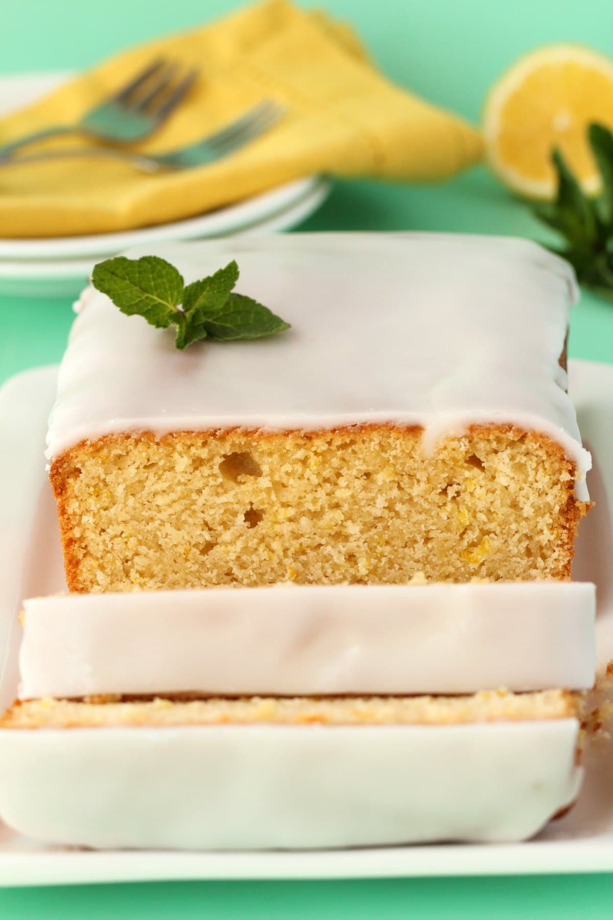
M 58 73 L 0 77 L 0 116 L 51 92 L 68 77 Z M 329 191 L 326 178 L 311 176 L 227 208 L 142 230 L 44 239 L 0 237 L 0 295 L 75 296 L 96 262 L 147 243 L 289 230 L 312 214 Z

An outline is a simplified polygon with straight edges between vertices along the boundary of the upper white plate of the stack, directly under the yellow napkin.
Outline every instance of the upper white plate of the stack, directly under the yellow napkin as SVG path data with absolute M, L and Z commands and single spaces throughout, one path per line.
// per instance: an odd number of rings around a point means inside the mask
M 60 86 L 70 78 L 67 73 L 42 73 L 0 75 L 0 115 L 28 105 Z M 23 167 L 24 169 L 28 167 Z M 1 238 L 0 259 L 75 259 L 111 255 L 122 249 L 146 245 L 162 240 L 187 240 L 206 236 L 221 236 L 237 233 L 239 230 L 280 216 L 290 208 L 302 205 L 300 216 L 284 224 L 283 229 L 304 219 L 324 200 L 329 184 L 321 177 L 310 176 L 295 179 L 278 188 L 239 201 L 197 217 L 142 229 L 119 231 L 107 234 L 64 236 L 41 239 Z M 319 195 L 314 192 L 319 191 Z M 306 202 L 309 202 L 308 210 Z M 280 229 L 280 227 L 279 227 Z

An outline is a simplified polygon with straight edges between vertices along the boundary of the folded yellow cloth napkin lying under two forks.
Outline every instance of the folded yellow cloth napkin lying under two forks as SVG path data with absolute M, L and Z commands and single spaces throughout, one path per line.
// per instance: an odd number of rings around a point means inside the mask
M 481 139 L 469 124 L 392 86 L 349 27 L 287 0 L 265 0 L 209 26 L 120 53 L 0 121 L 0 144 L 78 120 L 159 54 L 197 65 L 200 75 L 141 150 L 189 144 L 264 98 L 282 100 L 288 114 L 239 153 L 184 172 L 151 176 L 103 159 L 4 167 L 0 236 L 163 224 L 313 173 L 439 179 L 481 156 Z

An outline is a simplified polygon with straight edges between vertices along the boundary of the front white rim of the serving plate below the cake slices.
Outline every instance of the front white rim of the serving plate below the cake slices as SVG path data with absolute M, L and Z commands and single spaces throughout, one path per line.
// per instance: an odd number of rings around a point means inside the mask
M 569 875 L 610 871 L 613 835 L 607 842 L 448 844 L 364 847 L 354 850 L 260 853 L 173 850 L 13 852 L 0 849 L 0 888 L 178 880 L 342 880 L 483 878 L 493 875 Z M 595 854 L 594 849 L 598 852 Z M 517 850 L 522 856 L 517 858 Z M 452 866 L 446 858 L 454 854 Z M 119 863 L 119 865 L 117 865 Z M 475 865 L 479 865 L 479 869 Z M 280 867 L 280 868 L 279 868 Z M 18 873 L 22 873 L 19 875 Z

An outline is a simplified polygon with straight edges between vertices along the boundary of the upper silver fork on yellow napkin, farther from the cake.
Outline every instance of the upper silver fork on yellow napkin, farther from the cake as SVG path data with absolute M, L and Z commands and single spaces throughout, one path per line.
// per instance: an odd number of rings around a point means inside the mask
M 24 146 L 62 134 L 85 134 L 110 144 L 142 141 L 166 121 L 198 76 L 192 67 L 177 82 L 179 71 L 178 63 L 158 58 L 112 96 L 85 112 L 80 121 L 51 125 L 0 146 L 0 163 Z

